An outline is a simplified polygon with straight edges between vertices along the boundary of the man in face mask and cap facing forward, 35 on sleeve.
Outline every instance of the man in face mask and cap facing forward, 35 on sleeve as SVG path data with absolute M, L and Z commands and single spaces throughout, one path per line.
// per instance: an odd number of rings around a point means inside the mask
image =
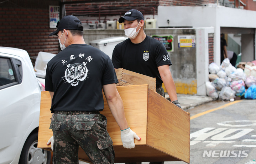
M 115 68 L 124 68 L 136 73 L 156 78 L 156 91 L 164 97 L 162 83 L 176 106 L 178 102 L 176 86 L 169 66 L 172 64 L 164 45 L 144 32 L 144 17 L 138 10 L 129 10 L 119 18 L 124 23 L 125 35 L 129 38 L 117 44 L 113 50 L 112 62 Z M 163 162 L 150 162 L 150 164 Z

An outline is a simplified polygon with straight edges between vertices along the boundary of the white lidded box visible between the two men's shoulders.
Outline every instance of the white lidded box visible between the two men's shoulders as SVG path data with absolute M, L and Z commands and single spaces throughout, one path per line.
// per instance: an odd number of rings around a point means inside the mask
M 127 38 L 124 36 L 115 36 L 105 39 L 97 39 L 90 41 L 89 44 L 93 47 L 96 47 L 106 53 L 110 58 L 112 58 L 112 53 L 115 48 L 115 46 L 118 43 L 121 43 L 122 41 L 126 40 Z

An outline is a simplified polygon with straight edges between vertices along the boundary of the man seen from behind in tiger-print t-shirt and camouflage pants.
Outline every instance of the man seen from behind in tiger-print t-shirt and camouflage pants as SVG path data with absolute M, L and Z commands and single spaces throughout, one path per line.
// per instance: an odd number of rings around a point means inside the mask
M 83 39 L 83 26 L 72 15 L 57 24 L 57 35 L 63 51 L 47 64 L 45 90 L 52 97 L 53 136 L 47 142 L 53 150 L 53 164 L 78 164 L 79 146 L 94 164 L 114 163 L 112 140 L 106 131 L 102 89 L 111 113 L 121 129 L 125 148 L 135 147 L 133 132 L 126 121 L 124 107 L 115 83 L 116 73 L 108 55 Z

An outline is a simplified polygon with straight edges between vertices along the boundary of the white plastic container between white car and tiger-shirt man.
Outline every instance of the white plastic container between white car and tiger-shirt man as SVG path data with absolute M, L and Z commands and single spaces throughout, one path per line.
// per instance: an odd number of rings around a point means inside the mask
M 35 61 L 35 67 L 34 69 L 36 70 L 36 76 L 40 78 L 45 78 L 45 73 L 46 73 L 46 67 L 48 61 L 50 61 L 55 54 L 53 53 L 48 53 L 48 52 L 42 52 L 40 51 L 36 57 Z

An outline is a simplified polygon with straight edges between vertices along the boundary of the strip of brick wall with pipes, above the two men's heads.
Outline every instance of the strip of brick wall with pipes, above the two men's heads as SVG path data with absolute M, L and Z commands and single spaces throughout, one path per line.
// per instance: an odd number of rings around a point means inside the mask
M 66 4 L 67 15 L 76 16 L 101 16 L 123 15 L 129 9 L 137 9 L 144 15 L 157 15 L 157 6 L 202 6 L 203 4 L 216 3 L 216 0 L 126 0 L 103 1 L 90 3 L 77 3 L 79 0 L 65 0 L 74 2 Z

